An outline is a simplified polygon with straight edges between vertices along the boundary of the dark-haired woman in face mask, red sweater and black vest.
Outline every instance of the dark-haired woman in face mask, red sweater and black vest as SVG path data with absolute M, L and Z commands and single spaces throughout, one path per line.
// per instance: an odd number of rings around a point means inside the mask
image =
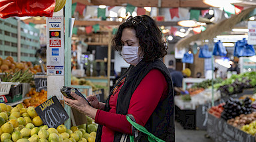
M 112 44 L 130 67 L 110 91 L 106 104 L 88 96 L 92 108 L 73 93 L 76 100 L 64 98 L 66 104 L 99 124 L 96 141 L 130 141 L 126 136 L 133 134 L 135 141 L 148 141 L 144 133 L 132 131 L 126 115 L 156 137 L 174 141 L 174 91 L 170 73 L 159 59 L 166 55 L 166 47 L 156 22 L 146 15 L 129 17 Z

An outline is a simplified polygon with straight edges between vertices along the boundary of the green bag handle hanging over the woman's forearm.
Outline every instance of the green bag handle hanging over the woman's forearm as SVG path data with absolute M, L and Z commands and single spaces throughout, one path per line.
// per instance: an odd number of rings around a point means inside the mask
M 140 124 L 136 124 L 136 122 L 133 122 L 129 116 L 126 116 L 126 119 L 130 124 L 132 124 L 138 131 L 141 131 L 148 135 L 148 141 L 150 142 L 164 142 L 162 139 L 159 139 L 158 137 L 154 136 L 152 133 L 150 133 L 145 127 L 143 127 Z M 130 135 L 130 142 L 134 142 L 134 135 Z

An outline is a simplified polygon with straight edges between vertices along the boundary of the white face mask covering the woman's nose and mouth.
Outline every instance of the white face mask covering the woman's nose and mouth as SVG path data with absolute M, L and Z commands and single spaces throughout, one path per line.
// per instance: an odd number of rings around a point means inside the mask
M 131 65 L 138 65 L 143 57 L 139 57 L 138 48 L 140 46 L 122 46 L 122 57 L 124 61 Z

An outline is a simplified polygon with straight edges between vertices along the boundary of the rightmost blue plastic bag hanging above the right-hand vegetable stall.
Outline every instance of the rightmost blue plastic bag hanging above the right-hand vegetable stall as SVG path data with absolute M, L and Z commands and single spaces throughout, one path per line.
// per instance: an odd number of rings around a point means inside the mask
M 249 57 L 255 55 L 255 50 L 252 45 L 247 44 L 245 38 L 235 43 L 234 56 Z

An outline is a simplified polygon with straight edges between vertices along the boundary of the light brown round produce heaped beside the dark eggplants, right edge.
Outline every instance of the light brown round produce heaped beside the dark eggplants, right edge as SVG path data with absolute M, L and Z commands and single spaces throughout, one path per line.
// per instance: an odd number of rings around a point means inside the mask
M 245 125 L 251 124 L 251 122 L 254 122 L 255 120 L 256 120 L 256 112 L 252 112 L 251 114 L 247 114 L 247 115 L 240 114 L 235 118 L 231 118 L 230 120 L 227 120 L 227 124 L 233 125 L 234 127 L 238 127 L 243 130 L 244 129 L 243 127 Z

